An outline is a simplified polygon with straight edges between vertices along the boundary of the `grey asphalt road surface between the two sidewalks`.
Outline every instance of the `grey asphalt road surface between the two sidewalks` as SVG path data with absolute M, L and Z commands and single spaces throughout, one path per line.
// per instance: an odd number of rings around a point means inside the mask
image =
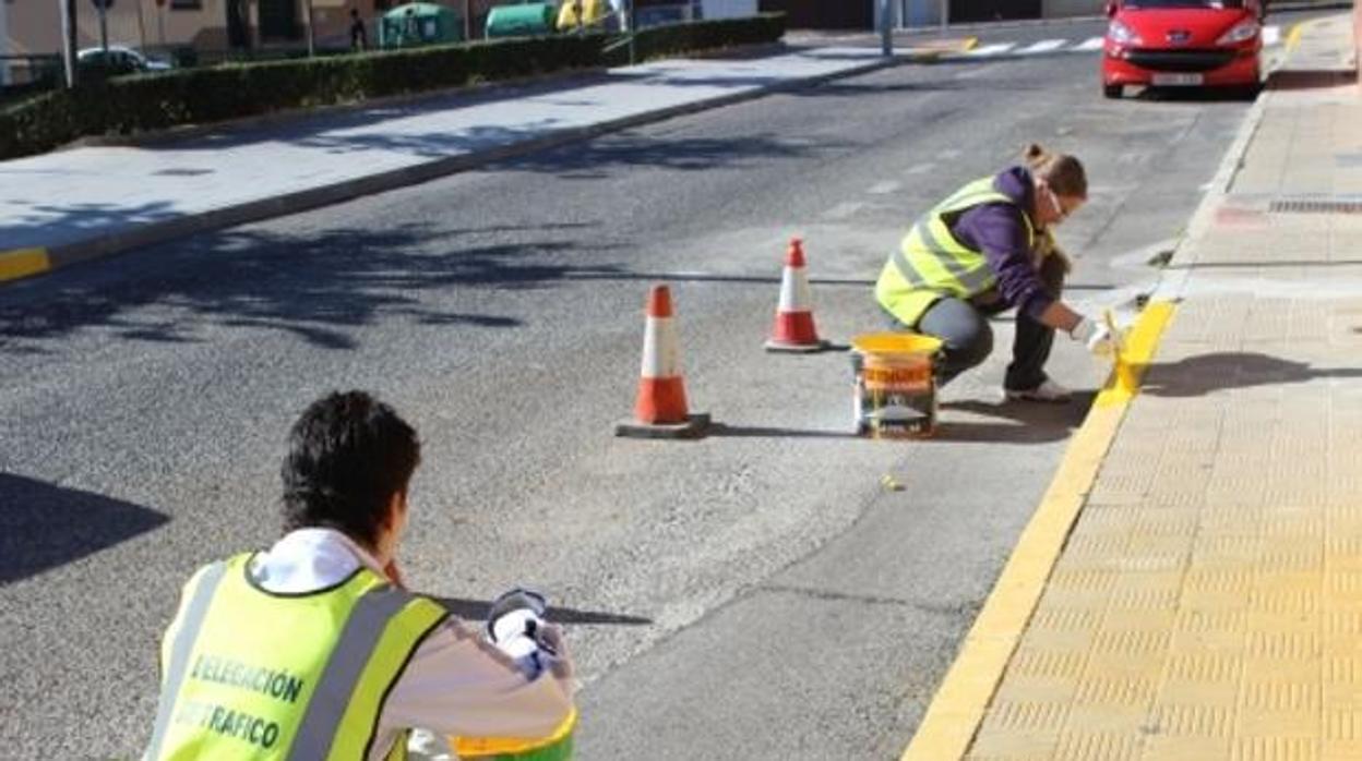
M 885 69 L 5 287 L 3 754 L 139 751 L 178 585 L 275 536 L 287 425 L 360 387 L 425 442 L 409 580 L 560 606 L 579 757 L 896 757 L 1091 395 L 1000 404 L 1001 320 L 938 438 L 854 438 L 844 353 L 761 351 L 785 242 L 844 343 L 911 219 L 1041 140 L 1092 184 L 1071 295 L 1128 309 L 1248 103 L 1109 102 L 1095 65 Z M 612 436 L 654 282 L 704 441 Z

